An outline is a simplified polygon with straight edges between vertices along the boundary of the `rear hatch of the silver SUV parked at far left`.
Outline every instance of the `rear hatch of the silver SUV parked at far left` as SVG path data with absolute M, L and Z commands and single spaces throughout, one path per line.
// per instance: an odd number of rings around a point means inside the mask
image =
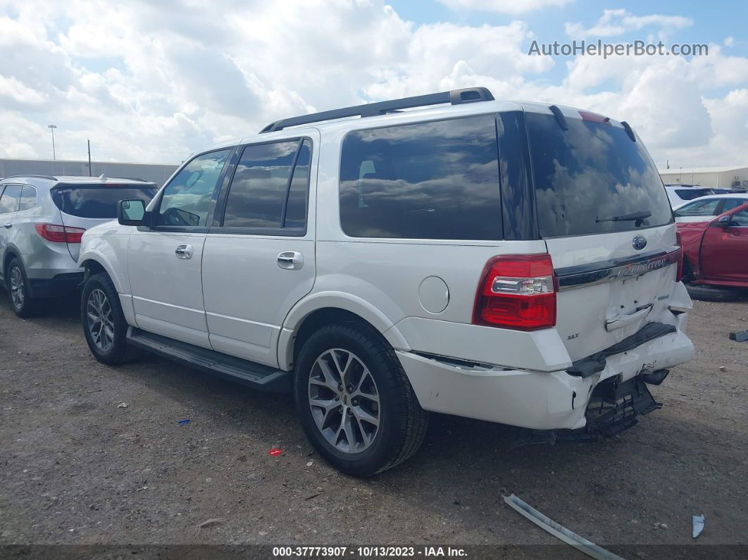
M 52 189 L 52 200 L 60 210 L 62 226 L 67 235 L 67 249 L 78 260 L 82 230 L 117 218 L 120 200 L 143 200 L 146 204 L 155 196 L 152 182 L 91 182 L 83 184 L 61 183 Z M 70 242 L 75 240 L 78 242 Z

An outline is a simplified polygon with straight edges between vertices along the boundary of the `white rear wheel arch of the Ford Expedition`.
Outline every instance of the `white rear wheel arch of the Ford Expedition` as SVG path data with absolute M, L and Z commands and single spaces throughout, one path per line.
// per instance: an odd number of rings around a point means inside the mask
M 405 337 L 387 318 L 364 299 L 342 292 L 321 292 L 298 302 L 289 311 L 278 336 L 278 364 L 293 368 L 304 342 L 315 330 L 335 322 L 355 321 L 376 330 L 393 348 L 409 350 Z

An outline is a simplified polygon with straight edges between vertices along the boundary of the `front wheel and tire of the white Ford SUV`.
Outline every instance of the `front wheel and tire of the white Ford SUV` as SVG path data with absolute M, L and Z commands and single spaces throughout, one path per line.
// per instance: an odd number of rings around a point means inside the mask
M 86 280 L 81 295 L 81 322 L 88 348 L 99 362 L 117 366 L 137 355 L 137 349 L 127 344 L 127 321 L 108 274 L 93 274 Z

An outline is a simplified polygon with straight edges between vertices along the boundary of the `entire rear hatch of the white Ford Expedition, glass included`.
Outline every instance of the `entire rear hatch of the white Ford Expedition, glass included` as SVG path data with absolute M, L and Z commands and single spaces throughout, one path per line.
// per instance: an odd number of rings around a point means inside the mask
M 571 360 L 650 322 L 668 303 L 679 250 L 640 138 L 601 115 L 526 108 L 539 230 L 558 276 L 557 330 Z

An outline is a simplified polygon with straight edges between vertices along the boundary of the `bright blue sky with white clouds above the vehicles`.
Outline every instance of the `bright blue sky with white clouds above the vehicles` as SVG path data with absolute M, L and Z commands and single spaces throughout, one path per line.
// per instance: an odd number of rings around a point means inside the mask
M 292 114 L 484 85 L 625 119 L 657 164 L 748 164 L 748 5 L 0 0 L 0 157 L 174 163 Z M 534 57 L 533 40 L 708 43 Z

